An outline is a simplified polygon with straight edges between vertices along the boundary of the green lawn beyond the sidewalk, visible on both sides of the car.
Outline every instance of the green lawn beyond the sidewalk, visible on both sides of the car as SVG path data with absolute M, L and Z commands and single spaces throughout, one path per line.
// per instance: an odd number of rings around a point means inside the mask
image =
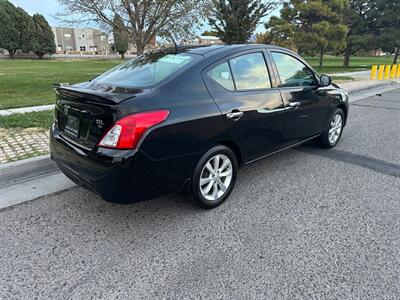
M 306 57 L 318 66 L 317 57 Z M 369 70 L 373 64 L 390 64 L 391 57 L 352 57 L 342 68 L 342 57 L 325 56 L 320 73 Z M 54 103 L 52 83 L 86 81 L 121 63 L 121 60 L 0 60 L 0 109 Z

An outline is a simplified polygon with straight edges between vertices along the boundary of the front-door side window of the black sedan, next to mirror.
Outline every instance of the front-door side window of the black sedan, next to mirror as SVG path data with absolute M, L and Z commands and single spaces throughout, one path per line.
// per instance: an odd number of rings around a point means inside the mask
M 281 87 L 316 86 L 314 73 L 293 56 L 272 52 L 281 79 Z

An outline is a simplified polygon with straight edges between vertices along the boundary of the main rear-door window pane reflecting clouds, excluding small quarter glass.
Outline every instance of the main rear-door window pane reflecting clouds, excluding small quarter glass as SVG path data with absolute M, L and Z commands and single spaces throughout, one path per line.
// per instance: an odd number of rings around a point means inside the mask
M 270 88 L 267 66 L 262 53 L 252 53 L 230 60 L 236 89 L 251 90 Z

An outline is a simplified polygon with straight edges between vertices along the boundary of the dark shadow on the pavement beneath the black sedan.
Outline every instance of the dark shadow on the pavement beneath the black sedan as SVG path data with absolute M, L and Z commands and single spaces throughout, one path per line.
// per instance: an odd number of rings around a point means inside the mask
M 81 187 L 74 187 L 21 205 L 40 206 L 45 210 L 47 210 L 46 207 L 52 207 L 54 214 L 65 218 L 70 217 L 79 222 L 94 221 L 98 226 L 105 227 L 108 223 L 122 222 L 132 226 L 148 226 L 149 223 L 154 224 L 155 221 L 160 220 L 173 221 L 182 220 L 182 218 L 202 218 L 203 215 L 220 215 L 248 205 L 249 197 L 256 197 L 264 190 L 261 185 L 261 192 L 257 191 L 256 181 L 260 178 L 261 182 L 267 181 L 268 177 L 276 179 L 274 173 L 279 172 L 282 165 L 288 167 L 290 164 L 295 164 L 296 156 L 298 156 L 297 151 L 286 151 L 241 167 L 232 194 L 224 204 L 214 210 L 196 207 L 190 193 L 175 193 L 131 204 L 113 204 Z

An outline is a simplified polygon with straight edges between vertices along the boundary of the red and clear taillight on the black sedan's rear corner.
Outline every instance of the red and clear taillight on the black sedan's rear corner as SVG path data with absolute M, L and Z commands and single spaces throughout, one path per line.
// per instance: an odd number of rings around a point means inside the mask
M 134 149 L 147 129 L 165 121 L 168 114 L 168 110 L 157 110 L 123 117 L 115 122 L 114 126 L 103 136 L 98 146 L 114 149 Z

